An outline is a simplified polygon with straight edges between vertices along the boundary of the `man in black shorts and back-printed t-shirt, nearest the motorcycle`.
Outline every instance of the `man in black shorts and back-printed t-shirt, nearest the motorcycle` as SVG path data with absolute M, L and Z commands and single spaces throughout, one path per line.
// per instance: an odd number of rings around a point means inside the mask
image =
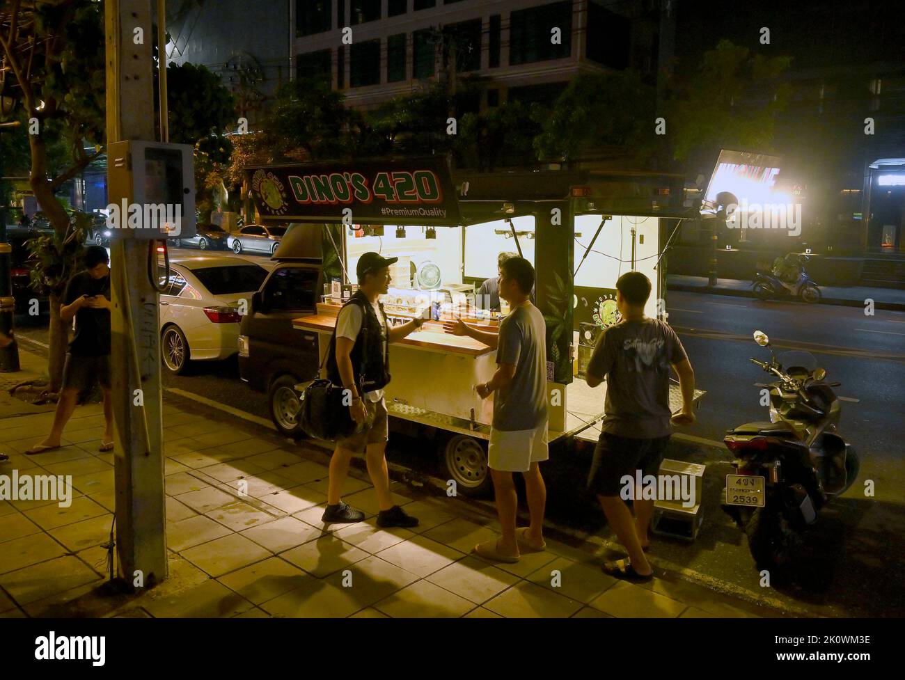
M 587 384 L 606 380 L 605 416 L 588 486 L 604 508 L 606 520 L 629 553 L 628 560 L 605 564 L 604 570 L 632 581 L 648 581 L 653 568 L 647 550 L 647 529 L 653 500 L 629 489 L 637 519 L 623 502 L 623 477 L 659 473 L 672 425 L 694 422 L 694 372 L 679 336 L 657 319 L 644 316 L 651 281 L 630 271 L 616 281 L 616 305 L 623 320 L 597 339 L 587 366 Z M 679 375 L 682 409 L 672 415 L 669 405 L 670 367 Z M 672 423 L 671 423 L 672 421 Z

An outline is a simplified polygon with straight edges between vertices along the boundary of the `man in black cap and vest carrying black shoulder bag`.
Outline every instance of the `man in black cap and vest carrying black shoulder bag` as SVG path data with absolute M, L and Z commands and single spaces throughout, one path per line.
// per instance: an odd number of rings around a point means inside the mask
M 342 502 L 339 492 L 348 474 L 352 456 L 365 449 L 367 474 L 377 494 L 377 525 L 417 526 L 418 520 L 393 505 L 389 474 L 386 471 L 387 413 L 384 387 L 390 382 L 388 342 L 402 340 L 420 328 L 426 319 L 418 318 L 403 326 L 389 327 L 383 305 L 377 297 L 386 294 L 390 284 L 389 266 L 398 258 L 384 258 L 366 252 L 358 259 L 358 290 L 339 310 L 336 330 L 330 340 L 327 359 L 328 377 L 351 392 L 349 415 L 357 430 L 338 439 L 330 458 L 327 508 L 320 518 L 325 523 L 361 522 L 365 514 Z

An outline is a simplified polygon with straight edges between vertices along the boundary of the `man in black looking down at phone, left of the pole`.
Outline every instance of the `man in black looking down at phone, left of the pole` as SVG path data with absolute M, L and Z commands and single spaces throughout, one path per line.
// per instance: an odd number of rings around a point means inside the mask
M 100 382 L 104 395 L 104 434 L 100 451 L 113 449 L 113 401 L 110 394 L 110 258 L 101 246 L 85 252 L 85 270 L 76 274 L 66 287 L 60 317 L 75 318 L 75 334 L 69 343 L 62 369 L 62 389 L 53 416 L 51 433 L 25 453 L 43 453 L 60 448 L 66 422 L 75 410 L 80 394 L 86 394 Z

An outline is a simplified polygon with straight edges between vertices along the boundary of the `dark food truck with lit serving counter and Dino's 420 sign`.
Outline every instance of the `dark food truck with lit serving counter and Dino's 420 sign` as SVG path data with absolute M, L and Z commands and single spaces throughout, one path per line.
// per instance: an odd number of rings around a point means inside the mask
M 274 253 L 277 265 L 243 317 L 240 373 L 267 392 L 271 418 L 299 436 L 300 383 L 318 375 L 339 309 L 355 289 L 358 258 L 398 260 L 381 297 L 390 324 L 431 316 L 389 345 L 391 423 L 426 428 L 449 478 L 465 494 L 490 486 L 487 440 L 492 396 L 474 390 L 496 370 L 496 350 L 443 331 L 461 317 L 493 332 L 506 313 L 476 293 L 498 276 L 500 252 L 537 272 L 535 304 L 547 325 L 551 446 L 595 442 L 605 383 L 581 379 L 600 332 L 618 323 L 615 281 L 637 269 L 651 279 L 647 316 L 664 318 L 663 247 L 690 209 L 682 177 L 544 171 L 461 173 L 442 157 L 247 170 L 263 222 L 295 222 Z M 698 391 L 696 397 L 700 398 Z M 673 410 L 681 407 L 672 385 Z

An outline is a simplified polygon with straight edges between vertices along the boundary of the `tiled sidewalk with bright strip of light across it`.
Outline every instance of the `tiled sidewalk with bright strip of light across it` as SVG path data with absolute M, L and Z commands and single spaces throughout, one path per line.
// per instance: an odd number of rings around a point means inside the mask
M 0 407 L 9 407 L 9 402 Z M 18 411 L 22 412 L 22 411 Z M 393 483 L 395 502 L 421 519 L 378 529 L 367 475 L 354 468 L 359 524 L 319 518 L 329 455 L 255 425 L 227 423 L 165 402 L 169 578 L 135 596 L 104 597 L 114 507 L 113 454 L 99 453 L 100 405 L 79 408 L 66 446 L 22 452 L 51 412 L 5 418 L 0 475 L 72 475 L 68 508 L 0 502 L 0 617 L 738 617 L 773 615 L 681 581 L 646 587 L 600 571 L 599 555 L 548 540 L 517 564 L 470 555 L 496 524 L 473 505 Z M 240 480 L 248 496 L 239 496 Z M 552 584 L 558 572 L 560 585 Z

